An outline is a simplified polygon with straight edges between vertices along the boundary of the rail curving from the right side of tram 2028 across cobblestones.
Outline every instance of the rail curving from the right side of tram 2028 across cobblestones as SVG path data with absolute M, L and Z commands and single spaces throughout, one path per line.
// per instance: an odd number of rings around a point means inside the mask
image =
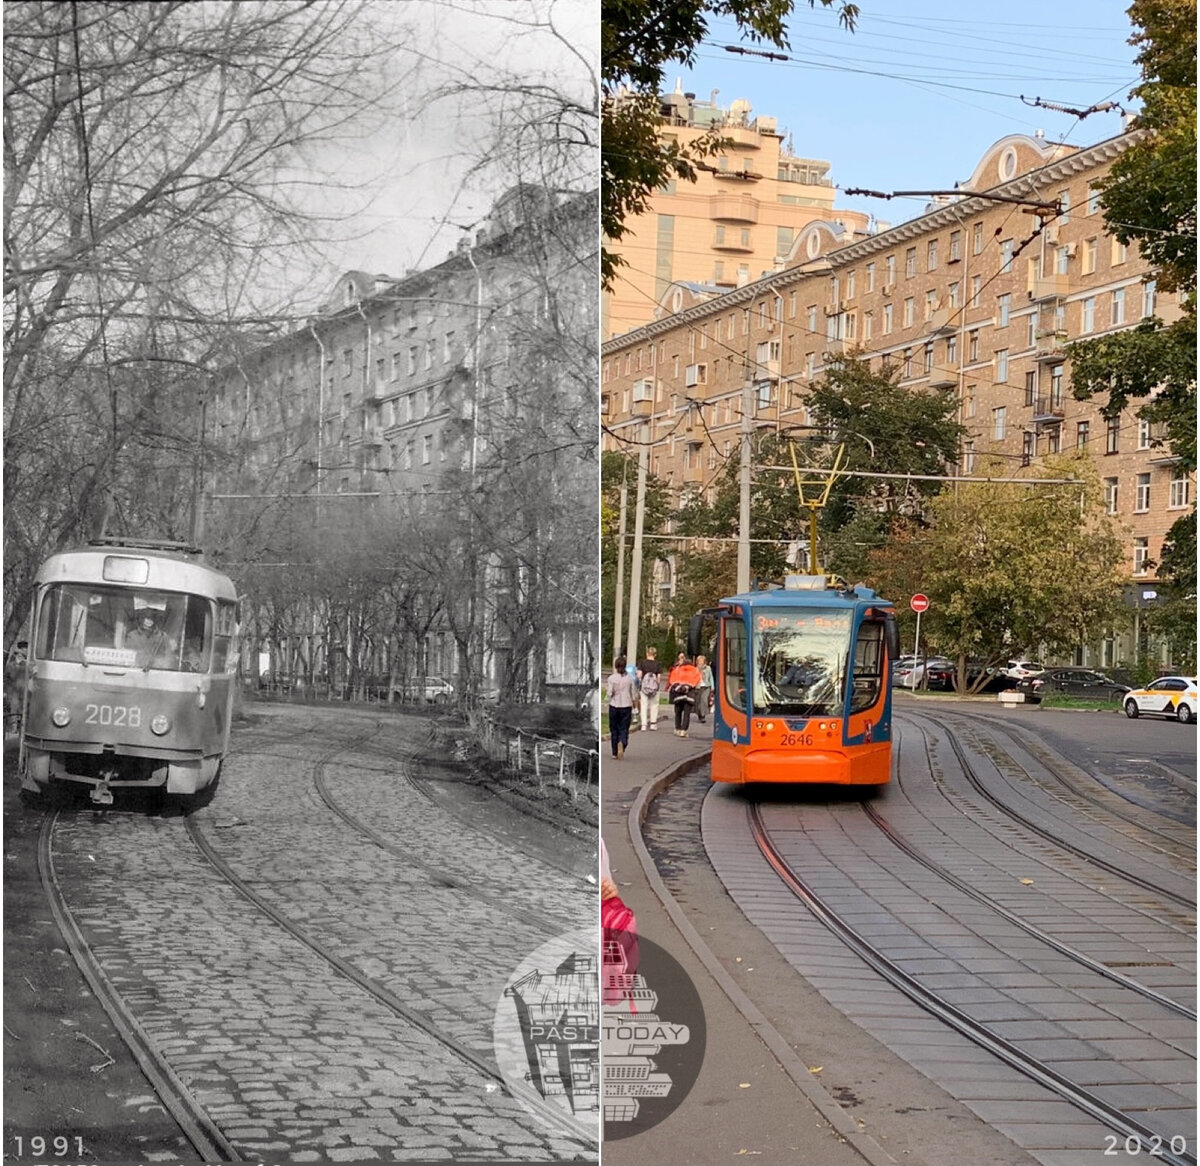
M 372 980 L 368 975 L 360 972 L 353 963 L 348 960 L 343 960 L 341 956 L 330 951 L 324 944 L 313 939 L 307 932 L 294 924 L 287 918 L 281 910 L 272 907 L 262 895 L 259 895 L 253 888 L 242 879 L 236 871 L 229 866 L 228 863 L 216 853 L 212 845 L 204 836 L 204 833 L 196 824 L 196 821 L 188 816 L 185 819 L 185 825 L 188 836 L 196 845 L 196 848 L 204 855 L 209 864 L 221 874 L 222 878 L 234 890 L 238 891 L 244 898 L 257 907 L 264 915 L 266 915 L 272 922 L 277 924 L 284 931 L 288 932 L 294 939 L 300 944 L 312 951 L 314 955 L 324 960 L 330 967 L 338 972 L 342 976 L 350 980 L 364 992 L 371 996 L 374 1000 L 391 1011 L 394 1015 L 401 1017 L 401 1020 L 407 1021 L 413 1024 L 413 1027 L 419 1028 L 426 1035 L 436 1040 L 444 1048 L 454 1053 L 458 1059 L 472 1065 L 479 1072 L 484 1074 L 491 1081 L 496 1082 L 497 1088 L 504 1093 L 506 1096 L 511 1096 L 516 1100 L 522 1101 L 527 1107 L 536 1112 L 538 1117 L 541 1118 L 546 1125 L 554 1129 L 558 1134 L 565 1135 L 566 1137 L 583 1142 L 583 1137 L 575 1123 L 570 1120 L 557 1106 L 551 1102 L 545 1101 L 538 1094 L 533 1094 L 533 1090 L 528 1093 L 518 1088 L 514 1088 L 505 1076 L 500 1072 L 499 1068 L 493 1065 L 485 1057 L 480 1057 L 473 1050 L 468 1048 L 461 1041 L 456 1040 L 454 1036 L 448 1035 L 437 1024 L 433 1023 L 428 1017 L 421 1015 L 416 1010 L 409 1008 L 398 996 L 389 991 L 382 984 Z M 530 1095 L 533 1094 L 533 1095 Z

